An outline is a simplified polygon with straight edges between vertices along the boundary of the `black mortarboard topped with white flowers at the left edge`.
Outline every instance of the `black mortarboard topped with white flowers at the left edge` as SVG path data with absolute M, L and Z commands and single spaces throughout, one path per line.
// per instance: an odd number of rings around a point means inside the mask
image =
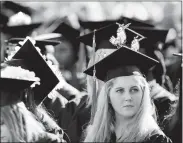
M 24 60 L 12 59 L 1 64 L 0 90 L 21 91 L 40 79 L 26 69 Z

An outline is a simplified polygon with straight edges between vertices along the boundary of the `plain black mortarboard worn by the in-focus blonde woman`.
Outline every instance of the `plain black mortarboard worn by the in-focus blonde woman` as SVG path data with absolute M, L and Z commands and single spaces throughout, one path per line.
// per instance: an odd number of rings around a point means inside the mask
M 138 69 L 140 69 L 142 74 L 146 75 L 148 70 L 156 64 L 158 64 L 158 61 L 124 46 L 89 67 L 84 73 L 93 76 L 95 66 L 96 77 L 102 81 L 106 81 L 118 76 L 128 76 L 132 74 L 133 70 L 139 72 Z M 128 66 L 135 67 L 131 68 Z M 119 67 L 123 67 L 122 70 L 118 69 Z M 112 70 L 115 70 L 113 74 L 108 75 L 109 71 Z

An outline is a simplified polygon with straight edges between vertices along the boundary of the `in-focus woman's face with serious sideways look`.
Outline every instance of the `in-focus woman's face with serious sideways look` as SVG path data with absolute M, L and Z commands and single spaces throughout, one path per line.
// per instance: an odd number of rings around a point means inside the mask
M 133 117 L 141 105 L 143 91 L 138 76 L 117 77 L 109 93 L 116 114 Z

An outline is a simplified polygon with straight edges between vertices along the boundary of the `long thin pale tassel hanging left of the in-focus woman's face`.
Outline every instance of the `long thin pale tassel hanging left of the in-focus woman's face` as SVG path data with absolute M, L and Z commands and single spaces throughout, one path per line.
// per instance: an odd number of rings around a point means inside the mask
M 96 42 L 95 42 L 95 31 L 94 30 L 94 34 L 93 34 L 93 65 L 95 64 L 95 49 L 96 49 Z M 96 111 L 96 105 L 97 105 L 97 91 L 96 91 L 96 69 L 95 69 L 95 65 L 94 65 L 94 69 L 93 69 L 93 95 L 92 95 L 92 105 L 91 105 L 91 123 L 93 123 L 93 119 L 94 119 L 94 115 L 95 115 L 95 111 Z

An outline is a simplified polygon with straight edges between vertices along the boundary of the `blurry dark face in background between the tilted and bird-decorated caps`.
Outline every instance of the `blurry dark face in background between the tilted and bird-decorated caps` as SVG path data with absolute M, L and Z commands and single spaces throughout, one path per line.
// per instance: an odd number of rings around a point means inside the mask
M 63 41 L 55 47 L 54 56 L 61 68 L 67 69 L 74 64 L 75 53 L 73 48 L 74 47 L 67 41 Z

